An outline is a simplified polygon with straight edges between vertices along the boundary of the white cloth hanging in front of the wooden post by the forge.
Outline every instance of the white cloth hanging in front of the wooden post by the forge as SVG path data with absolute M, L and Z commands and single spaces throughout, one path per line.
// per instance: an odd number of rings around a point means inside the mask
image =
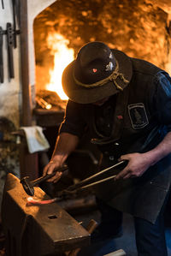
M 21 127 L 27 138 L 28 152 L 41 152 L 50 148 L 48 140 L 43 134 L 43 128 L 39 126 Z

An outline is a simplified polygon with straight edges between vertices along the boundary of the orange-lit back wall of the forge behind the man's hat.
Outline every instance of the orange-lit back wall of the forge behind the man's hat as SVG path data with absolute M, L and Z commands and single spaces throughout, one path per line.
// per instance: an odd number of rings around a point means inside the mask
M 36 85 L 42 88 L 50 78 L 53 56 L 46 39 L 53 32 L 68 39 L 75 54 L 85 43 L 99 40 L 171 73 L 168 24 L 168 13 L 150 1 L 56 1 L 34 21 Z

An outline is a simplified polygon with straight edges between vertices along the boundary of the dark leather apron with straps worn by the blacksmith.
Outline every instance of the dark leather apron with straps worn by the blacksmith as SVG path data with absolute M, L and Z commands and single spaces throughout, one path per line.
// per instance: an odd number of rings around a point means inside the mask
M 130 86 L 127 86 L 123 92 L 117 95 L 114 113 L 115 126 L 113 127 L 110 139 L 102 138 L 101 140 L 92 141 L 96 143 L 103 152 L 101 170 L 115 164 L 122 154 L 129 152 L 147 152 L 154 147 L 151 141 L 156 141 L 156 144 L 158 144 L 162 140 L 158 135 L 159 126 L 150 130 L 148 136 L 145 134 L 146 140 L 143 144 L 139 142 L 137 146 L 133 148 L 131 141 L 127 142 L 121 140 L 121 136 L 124 133 L 124 120 L 127 119 L 129 90 Z M 99 136 L 95 127 L 93 111 L 91 111 L 91 116 L 89 117 L 91 129 Z M 126 144 L 129 143 L 130 148 L 128 147 L 128 150 L 125 150 L 127 146 L 124 145 L 124 142 Z M 117 174 L 119 171 L 121 170 L 110 170 L 109 173 L 103 177 Z M 95 193 L 97 198 L 102 199 L 117 210 L 155 223 L 156 217 L 168 193 L 170 182 L 171 155 L 168 155 L 166 158 L 163 158 L 160 162 L 150 167 L 149 170 L 146 170 L 143 176 L 116 182 L 114 180 L 104 182 L 95 187 Z

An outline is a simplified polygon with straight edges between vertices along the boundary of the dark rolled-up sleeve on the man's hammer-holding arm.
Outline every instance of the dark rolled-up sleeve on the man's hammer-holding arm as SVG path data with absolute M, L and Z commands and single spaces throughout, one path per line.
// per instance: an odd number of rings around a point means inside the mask
M 84 134 L 86 123 L 83 118 L 84 107 L 82 104 L 68 100 L 63 122 L 59 128 L 59 133 L 74 134 L 81 137 Z

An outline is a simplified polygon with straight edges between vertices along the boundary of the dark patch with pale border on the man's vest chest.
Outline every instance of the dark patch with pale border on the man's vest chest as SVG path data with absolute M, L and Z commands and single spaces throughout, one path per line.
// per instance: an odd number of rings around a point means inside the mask
M 129 104 L 127 107 L 133 129 L 144 128 L 149 123 L 143 103 Z

